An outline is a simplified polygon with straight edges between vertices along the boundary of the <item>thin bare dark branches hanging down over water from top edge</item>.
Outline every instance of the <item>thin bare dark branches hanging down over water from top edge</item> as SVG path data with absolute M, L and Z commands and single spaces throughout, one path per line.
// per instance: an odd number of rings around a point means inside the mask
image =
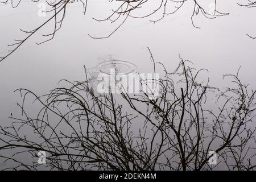
M 33 1 L 33 0 L 32 0 Z M 39 0 L 38 0 L 39 1 Z M 34 1 L 34 2 L 38 2 L 38 1 Z M 192 1 L 192 0 L 191 0 Z M 105 39 L 105 38 L 109 38 L 111 35 L 114 34 L 115 31 L 117 31 L 125 22 L 128 18 L 150 18 L 152 15 L 156 15 L 158 16 L 160 14 L 160 18 L 157 18 L 155 20 L 150 20 L 151 22 L 158 22 L 159 20 L 162 20 L 165 16 L 167 15 L 171 15 L 176 13 L 176 11 L 180 10 L 181 7 L 183 7 L 185 5 L 185 3 L 187 2 L 191 2 L 188 0 L 182 0 L 182 1 L 167 1 L 167 0 L 160 0 L 158 2 L 156 1 L 148 1 L 148 0 L 135 0 L 135 1 L 131 1 L 131 0 L 116 0 L 116 1 L 110 1 L 110 3 L 115 3 L 118 6 L 117 9 L 112 10 L 113 12 L 107 16 L 107 18 L 104 19 L 96 19 L 93 18 L 94 20 L 97 20 L 98 22 L 102 22 L 102 21 L 109 21 L 111 23 L 117 23 L 117 28 L 115 28 L 109 35 L 107 36 L 92 36 L 90 34 L 88 34 L 91 38 L 94 39 Z M 19 1 L 17 4 L 14 5 L 14 1 L 13 0 L 6 0 L 4 2 L 0 2 L 0 3 L 8 3 L 11 2 L 11 6 L 12 7 L 17 7 L 19 6 L 20 2 Z M 43 36 L 47 37 L 46 40 L 40 42 L 40 43 L 36 43 L 36 44 L 42 44 L 42 43 L 46 43 L 49 40 L 52 40 L 56 34 L 56 32 L 58 30 L 60 30 L 61 25 L 63 23 L 63 20 L 65 18 L 65 12 L 67 9 L 67 6 L 69 3 L 75 3 L 76 1 L 74 0 L 59 0 L 59 1 L 53 1 L 53 2 L 49 2 L 46 1 L 47 5 L 49 6 L 50 10 L 45 11 L 45 13 L 52 13 L 52 16 L 46 20 L 46 22 L 42 23 L 39 27 L 35 28 L 34 30 L 31 31 L 24 31 L 21 30 L 22 32 L 28 34 L 26 36 L 26 38 L 24 39 L 20 39 L 20 40 L 15 40 L 15 43 L 13 44 L 9 44 L 8 46 L 12 47 L 11 50 L 9 50 L 9 53 L 7 53 L 6 56 L 0 57 L 0 62 L 5 60 L 7 57 L 9 57 L 13 52 L 16 51 L 16 49 L 18 49 L 20 46 L 22 46 L 22 44 L 24 42 L 26 42 L 32 35 L 35 34 L 35 32 L 37 32 L 38 30 L 40 30 L 42 27 L 46 26 L 49 22 L 54 21 L 54 26 L 53 26 L 53 31 L 45 34 Z M 82 3 L 83 6 L 83 13 L 86 13 L 86 9 L 88 8 L 88 1 L 79 1 L 80 3 Z M 193 13 L 191 15 L 191 20 L 192 20 L 192 24 L 194 27 L 199 28 L 197 26 L 195 26 L 194 21 L 193 21 L 193 17 L 195 15 L 198 15 L 200 12 L 201 14 L 203 14 L 206 18 L 216 18 L 217 16 L 223 16 L 223 15 L 228 15 L 228 13 L 220 13 L 219 11 L 216 10 L 216 4 L 217 1 L 215 1 L 215 10 L 214 10 L 214 14 L 210 14 L 208 13 L 207 10 L 205 10 L 205 7 L 203 7 L 202 5 L 200 5 L 200 3 L 196 0 L 192 1 L 194 6 L 193 6 Z M 138 11 L 143 9 L 143 7 L 146 7 L 148 5 L 153 5 L 155 6 L 155 10 L 151 10 L 150 13 L 144 14 L 142 16 L 138 16 Z M 57 15 L 60 15 L 57 16 Z M 120 21 L 118 21 L 119 19 L 121 19 L 121 23 Z

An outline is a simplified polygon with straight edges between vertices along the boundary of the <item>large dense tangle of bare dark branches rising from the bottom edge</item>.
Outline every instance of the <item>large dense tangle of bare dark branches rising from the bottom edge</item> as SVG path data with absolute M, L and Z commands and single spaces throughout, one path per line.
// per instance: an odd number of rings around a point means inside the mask
M 228 170 L 255 169 L 255 90 L 248 90 L 237 75 L 234 88 L 209 86 L 199 80 L 206 69 L 189 67 L 181 59 L 173 72 L 164 68 L 159 96 L 149 93 L 98 94 L 86 81 L 51 90 L 38 97 L 27 89 L 18 104 L 23 117 L 9 127 L 0 126 L 0 150 L 15 155 L 13 169 L 37 169 L 15 156 L 38 158 L 47 152 L 47 167 L 59 170 Z M 142 84 L 142 83 L 141 83 Z M 29 98 L 41 105 L 35 117 L 25 106 Z M 213 98 L 215 102 L 212 103 Z M 22 131 L 33 131 L 32 136 Z M 210 151 L 218 155 L 209 164 Z M 10 169 L 10 168 L 7 168 Z

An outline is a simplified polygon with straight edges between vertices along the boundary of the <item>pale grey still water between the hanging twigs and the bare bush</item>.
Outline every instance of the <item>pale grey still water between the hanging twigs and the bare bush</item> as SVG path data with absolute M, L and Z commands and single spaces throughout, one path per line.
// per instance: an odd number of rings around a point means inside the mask
M 159 1 L 152 2 L 155 2 L 151 5 L 155 9 Z M 205 1 L 206 10 L 212 2 Z M 206 19 L 202 15 L 195 17 L 195 24 L 201 29 L 192 26 L 193 5 L 187 3 L 176 14 L 166 16 L 156 24 L 148 20 L 160 17 L 160 14 L 149 19 L 129 18 L 110 38 L 100 40 L 92 39 L 88 34 L 106 36 L 118 24 L 96 22 L 92 17 L 106 18 L 113 3 L 89 1 L 85 16 L 81 3 L 69 5 L 63 27 L 51 42 L 35 44 L 43 40 L 40 35 L 53 30 L 53 24 L 48 24 L 0 63 L 0 122 L 11 122 L 10 113 L 20 114 L 16 107 L 20 96 L 13 92 L 15 89 L 28 88 L 41 95 L 55 88 L 62 78 L 85 80 L 83 65 L 94 67 L 109 56 L 136 64 L 140 72 L 151 72 L 147 47 L 170 71 L 179 63 L 179 53 L 183 59 L 193 61 L 193 67 L 207 68 L 212 86 L 227 86 L 222 75 L 236 73 L 241 65 L 242 81 L 255 88 L 256 40 L 246 34 L 256 36 L 256 9 L 240 7 L 237 2 L 246 1 L 218 1 L 217 10 L 230 13 L 228 16 L 216 19 Z M 24 36 L 19 28 L 30 30 L 49 18 L 49 14 L 38 16 L 38 4 L 24 1 L 12 9 L 10 4 L 0 3 L 1 55 L 9 49 L 7 44 Z M 29 109 L 33 110 L 32 107 Z

